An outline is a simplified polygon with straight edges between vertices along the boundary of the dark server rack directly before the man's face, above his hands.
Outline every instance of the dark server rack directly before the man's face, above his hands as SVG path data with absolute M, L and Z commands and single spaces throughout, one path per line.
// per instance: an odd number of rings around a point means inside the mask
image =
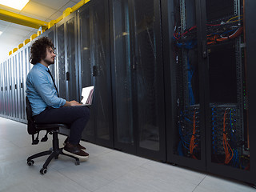
M 56 24 L 56 47 L 58 52 L 58 91 L 67 101 L 78 101 L 78 56 L 76 13 L 70 14 Z

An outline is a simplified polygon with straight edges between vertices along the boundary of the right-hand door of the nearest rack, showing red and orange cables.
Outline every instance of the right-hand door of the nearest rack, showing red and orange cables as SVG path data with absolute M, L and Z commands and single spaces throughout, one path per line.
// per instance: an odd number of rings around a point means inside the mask
M 253 181 L 255 175 L 250 174 L 254 172 L 251 149 L 254 146 L 249 139 L 247 88 L 250 82 L 246 71 L 252 63 L 246 61 L 246 40 L 249 38 L 245 35 L 245 1 L 205 2 L 209 87 L 206 91 L 209 118 L 206 116 L 206 119 L 210 120 L 206 122 L 207 169 L 246 182 Z

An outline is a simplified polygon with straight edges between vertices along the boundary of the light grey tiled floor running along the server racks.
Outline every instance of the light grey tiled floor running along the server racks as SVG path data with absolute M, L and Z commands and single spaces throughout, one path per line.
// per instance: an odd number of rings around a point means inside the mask
M 60 143 L 65 138 L 59 135 Z M 154 162 L 88 142 L 82 145 L 90 154 L 86 162 L 75 166 L 73 159 L 60 156 L 50 162 L 47 173 L 42 175 L 39 170 L 46 157 L 35 159 L 34 166 L 27 166 L 26 158 L 48 150 L 51 142 L 32 146 L 25 124 L 0 118 L 0 191 L 256 192 L 242 182 Z

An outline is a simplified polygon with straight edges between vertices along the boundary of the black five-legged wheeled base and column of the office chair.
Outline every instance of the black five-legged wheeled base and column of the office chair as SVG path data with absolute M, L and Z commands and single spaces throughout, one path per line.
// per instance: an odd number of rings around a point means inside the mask
M 46 150 L 46 151 L 42 151 L 38 154 L 34 154 L 31 155 L 29 158 L 27 158 L 26 162 L 28 164 L 28 166 L 32 166 L 34 164 L 33 159 L 34 158 L 39 158 L 45 155 L 50 155 L 47 159 L 46 162 L 43 164 L 42 169 L 40 170 L 41 174 L 46 174 L 47 172 L 47 166 L 49 165 L 49 163 L 51 162 L 51 160 L 53 158 L 58 159 L 58 155 L 62 154 L 62 155 L 66 155 L 70 158 L 74 158 L 75 159 L 75 165 L 78 166 L 80 164 L 79 162 L 79 158 L 76 158 L 74 156 L 71 156 L 70 154 L 64 154 L 62 152 L 63 147 L 59 148 L 58 146 L 58 132 L 56 130 L 53 131 L 53 149 L 52 150 Z

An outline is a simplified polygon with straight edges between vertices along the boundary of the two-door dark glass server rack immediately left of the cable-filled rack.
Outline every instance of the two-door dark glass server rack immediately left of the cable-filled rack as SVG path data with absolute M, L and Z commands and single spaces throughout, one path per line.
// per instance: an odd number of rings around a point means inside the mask
M 165 161 L 159 1 L 110 1 L 114 147 Z

